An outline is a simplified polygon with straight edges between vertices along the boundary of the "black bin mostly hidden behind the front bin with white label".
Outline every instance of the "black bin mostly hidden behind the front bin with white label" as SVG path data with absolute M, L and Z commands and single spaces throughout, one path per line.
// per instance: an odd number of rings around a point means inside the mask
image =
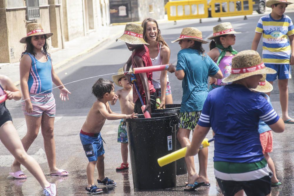
M 177 113 L 178 115 L 180 114 L 180 108 L 181 108 L 181 104 L 166 104 L 165 105 L 165 109 L 156 109 L 155 112 L 156 113 Z M 178 127 L 178 126 L 177 126 Z M 180 144 L 180 142 L 178 141 L 178 139 L 176 139 L 176 150 L 181 149 L 182 146 Z M 185 158 L 181 158 L 179 160 L 176 161 L 176 167 L 177 167 L 177 175 L 183 175 L 187 173 L 187 165 L 185 162 Z

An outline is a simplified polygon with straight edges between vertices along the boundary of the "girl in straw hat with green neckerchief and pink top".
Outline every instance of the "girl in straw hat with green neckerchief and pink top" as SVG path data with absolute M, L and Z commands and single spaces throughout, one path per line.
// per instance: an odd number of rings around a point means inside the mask
M 220 71 L 223 73 L 223 78 L 228 77 L 231 72 L 232 58 L 237 54 L 232 46 L 235 44 L 237 34 L 233 26 L 229 22 L 224 22 L 213 27 L 213 36 L 209 44 L 210 51 L 207 53 L 210 58 L 216 62 Z M 209 79 L 209 91 L 214 88 L 226 85 L 221 79 Z

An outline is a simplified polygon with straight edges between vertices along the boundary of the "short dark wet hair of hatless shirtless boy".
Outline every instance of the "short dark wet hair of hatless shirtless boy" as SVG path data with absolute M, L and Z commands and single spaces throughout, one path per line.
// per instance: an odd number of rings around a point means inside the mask
M 114 89 L 113 81 L 99 78 L 92 86 L 92 94 L 98 99 L 103 99 L 105 93 L 110 93 Z

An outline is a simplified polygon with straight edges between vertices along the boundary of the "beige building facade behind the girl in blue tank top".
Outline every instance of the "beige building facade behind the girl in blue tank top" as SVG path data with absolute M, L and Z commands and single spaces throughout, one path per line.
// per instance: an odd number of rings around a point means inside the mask
M 108 0 L 0 0 L 0 63 L 19 61 L 29 23 L 40 23 L 54 33 L 49 50 L 64 48 L 64 41 L 85 36 L 110 24 Z M 49 51 L 50 52 L 50 51 Z

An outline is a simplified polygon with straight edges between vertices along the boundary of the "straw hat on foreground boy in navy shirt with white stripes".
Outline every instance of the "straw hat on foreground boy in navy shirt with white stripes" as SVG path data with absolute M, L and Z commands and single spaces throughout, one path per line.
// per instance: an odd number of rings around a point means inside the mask
M 244 50 L 232 58 L 231 74 L 224 78 L 223 82 L 228 83 L 253 75 L 274 73 L 277 73 L 274 69 L 265 67 L 258 52 Z

